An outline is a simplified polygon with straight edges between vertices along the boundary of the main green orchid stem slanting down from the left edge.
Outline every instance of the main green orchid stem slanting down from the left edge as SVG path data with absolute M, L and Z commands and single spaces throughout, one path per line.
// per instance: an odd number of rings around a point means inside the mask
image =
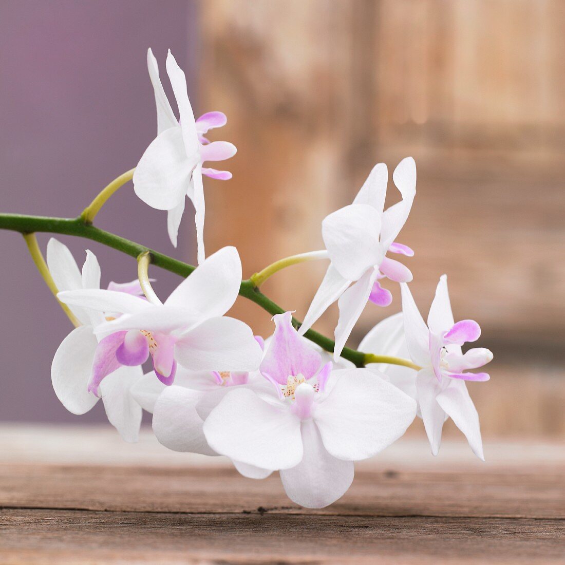
M 144 245 L 137 244 L 133 241 L 126 240 L 123 237 L 116 236 L 113 233 L 106 232 L 103 229 L 95 228 L 93 225 L 86 223 L 82 216 L 80 218 L 46 218 L 44 216 L 26 216 L 20 214 L 0 214 L 0 229 L 8 229 L 22 234 L 33 232 L 60 233 L 67 236 L 84 237 L 86 239 L 97 241 L 102 245 L 112 247 L 130 255 L 133 258 L 146 256 L 147 261 L 151 257 L 151 263 L 155 266 L 171 271 L 181 277 L 188 277 L 195 269 L 194 266 L 184 263 L 168 255 L 153 251 Z M 146 255 L 145 255 L 146 254 Z M 264 295 L 255 286 L 250 279 L 241 282 L 240 295 L 255 302 L 271 315 L 282 314 L 285 312 L 279 305 Z M 294 327 L 299 328 L 300 321 L 293 318 Z M 321 333 L 309 329 L 304 336 L 308 340 L 318 344 L 322 349 L 333 352 L 335 343 L 329 337 L 323 336 Z M 382 355 L 365 354 L 345 347 L 341 353 L 341 357 L 353 362 L 357 367 L 364 367 L 366 363 L 392 363 L 405 367 L 416 368 L 410 361 L 406 359 L 398 359 L 396 357 L 388 357 Z M 370 360 L 368 360 L 370 359 Z

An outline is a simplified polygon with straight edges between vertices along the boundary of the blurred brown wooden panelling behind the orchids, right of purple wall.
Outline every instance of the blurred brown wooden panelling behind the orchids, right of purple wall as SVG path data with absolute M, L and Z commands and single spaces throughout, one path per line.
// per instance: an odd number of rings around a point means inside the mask
M 565 437 L 565 3 L 206 0 L 199 18 L 200 109 L 227 113 L 239 150 L 229 186 L 208 183 L 208 249 L 237 244 L 246 276 L 317 249 L 320 221 L 373 164 L 392 175 L 412 155 L 411 288 L 427 312 L 447 272 L 455 317 L 483 327 L 496 355 L 492 381 L 471 387 L 484 433 Z M 324 269 L 265 289 L 301 317 Z M 351 345 L 398 311 L 393 292 Z M 271 331 L 264 312 L 235 310 Z

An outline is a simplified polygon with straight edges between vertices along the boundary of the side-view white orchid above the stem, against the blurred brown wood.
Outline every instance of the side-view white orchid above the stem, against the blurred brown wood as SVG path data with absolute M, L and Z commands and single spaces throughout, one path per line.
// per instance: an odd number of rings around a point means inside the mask
M 393 180 L 402 200 L 386 211 L 383 208 L 388 169 L 384 163 L 379 163 L 353 204 L 326 216 L 322 222 L 322 236 L 331 263 L 299 331 L 304 334 L 337 300 L 340 318 L 335 330 L 336 360 L 367 301 L 379 306 L 388 306 L 392 302 L 392 295 L 381 287 L 379 279 L 412 280 L 410 270 L 397 260 L 386 257 L 386 253 L 414 255 L 410 247 L 394 241 L 410 214 L 416 194 L 414 159 L 403 159 L 394 169 Z

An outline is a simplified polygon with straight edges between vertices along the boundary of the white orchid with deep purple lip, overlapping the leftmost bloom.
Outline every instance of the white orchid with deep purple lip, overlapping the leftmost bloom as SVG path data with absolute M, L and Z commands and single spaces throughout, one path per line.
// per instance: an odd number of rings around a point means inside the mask
M 60 292 L 69 306 L 122 315 L 94 328 L 102 337 L 94 357 L 88 389 L 98 386 L 121 366 L 145 363 L 149 355 L 155 375 L 164 384 L 175 380 L 177 361 L 194 371 L 251 371 L 262 350 L 249 326 L 224 316 L 241 285 L 241 260 L 235 247 L 224 247 L 198 266 L 167 300 L 144 298 L 112 290 Z

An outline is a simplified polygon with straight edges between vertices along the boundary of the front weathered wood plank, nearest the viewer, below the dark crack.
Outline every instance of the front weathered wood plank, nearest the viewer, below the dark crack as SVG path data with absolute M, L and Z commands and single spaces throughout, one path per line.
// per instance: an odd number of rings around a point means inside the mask
M 10 563 L 562 563 L 554 520 L 3 510 Z

